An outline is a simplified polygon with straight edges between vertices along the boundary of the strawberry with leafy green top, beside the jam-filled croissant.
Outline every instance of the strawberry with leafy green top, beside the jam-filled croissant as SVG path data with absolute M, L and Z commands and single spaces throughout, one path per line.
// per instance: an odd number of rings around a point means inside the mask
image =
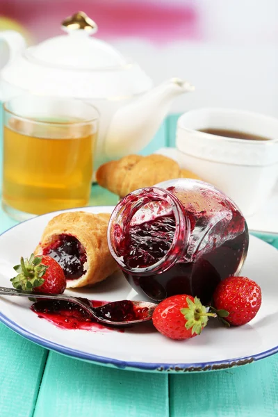
M 62 294 L 65 291 L 66 279 L 63 269 L 50 256 L 35 256 L 20 259 L 20 265 L 14 270 L 17 276 L 10 279 L 18 290 L 37 291 L 44 294 Z

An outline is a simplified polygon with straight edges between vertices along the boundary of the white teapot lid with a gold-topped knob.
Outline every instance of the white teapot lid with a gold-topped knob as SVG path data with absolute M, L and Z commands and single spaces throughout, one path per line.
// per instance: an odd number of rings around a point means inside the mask
M 67 35 L 56 36 L 29 47 L 26 56 L 40 64 L 70 67 L 83 70 L 99 70 L 121 67 L 126 60 L 107 42 L 91 38 L 97 32 L 97 24 L 85 13 L 78 12 L 62 22 Z

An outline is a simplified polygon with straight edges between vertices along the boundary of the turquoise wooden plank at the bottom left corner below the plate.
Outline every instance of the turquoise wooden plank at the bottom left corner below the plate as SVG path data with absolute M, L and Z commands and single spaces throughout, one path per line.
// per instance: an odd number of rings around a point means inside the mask
M 31 417 L 48 351 L 0 323 L 0 416 Z

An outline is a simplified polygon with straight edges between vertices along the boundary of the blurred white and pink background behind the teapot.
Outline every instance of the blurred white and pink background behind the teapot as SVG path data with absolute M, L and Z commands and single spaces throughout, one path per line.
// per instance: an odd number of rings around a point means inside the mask
M 277 0 L 0 0 L 0 30 L 35 44 L 79 10 L 154 83 L 179 76 L 195 85 L 172 113 L 224 106 L 278 116 Z

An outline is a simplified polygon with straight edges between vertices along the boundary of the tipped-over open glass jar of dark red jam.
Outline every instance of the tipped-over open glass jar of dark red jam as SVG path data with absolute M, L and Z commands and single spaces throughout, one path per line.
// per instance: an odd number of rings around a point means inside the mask
M 194 179 L 126 195 L 108 224 L 108 245 L 126 279 L 155 301 L 188 294 L 209 304 L 220 280 L 240 273 L 248 243 L 236 204 Z

